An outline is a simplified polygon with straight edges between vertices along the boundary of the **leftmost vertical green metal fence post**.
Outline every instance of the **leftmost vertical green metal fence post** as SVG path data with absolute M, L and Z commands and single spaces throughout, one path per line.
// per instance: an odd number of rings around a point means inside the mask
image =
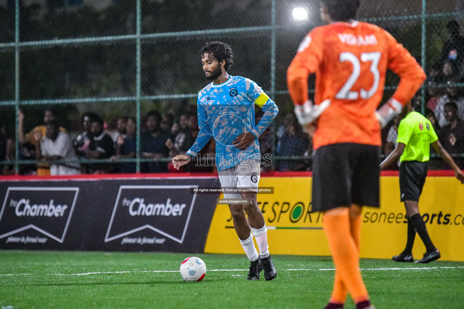
M 16 140 L 15 140 L 15 157 L 14 157 L 14 169 L 16 175 L 19 174 L 19 0 L 15 1 L 15 13 L 14 13 L 14 107 L 15 107 L 15 129 L 16 129 Z

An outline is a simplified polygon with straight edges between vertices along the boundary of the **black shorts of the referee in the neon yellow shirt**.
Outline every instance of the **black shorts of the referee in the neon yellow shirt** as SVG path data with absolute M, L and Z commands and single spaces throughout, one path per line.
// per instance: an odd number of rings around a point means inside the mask
M 400 164 L 400 197 L 401 202 L 416 201 L 424 188 L 427 178 L 427 162 L 403 161 Z

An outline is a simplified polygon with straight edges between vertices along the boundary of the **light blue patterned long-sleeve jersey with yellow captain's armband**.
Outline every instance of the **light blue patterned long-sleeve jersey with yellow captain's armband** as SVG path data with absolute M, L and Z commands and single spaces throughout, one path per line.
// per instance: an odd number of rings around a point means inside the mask
M 255 107 L 264 112 L 255 125 Z M 187 154 L 195 157 L 212 137 L 216 141 L 218 171 L 226 170 L 250 158 L 260 158 L 258 137 L 277 116 L 277 105 L 256 82 L 241 76 L 230 76 L 219 85 L 208 84 L 198 93 L 198 133 Z M 236 138 L 251 132 L 256 139 L 242 151 L 232 145 Z

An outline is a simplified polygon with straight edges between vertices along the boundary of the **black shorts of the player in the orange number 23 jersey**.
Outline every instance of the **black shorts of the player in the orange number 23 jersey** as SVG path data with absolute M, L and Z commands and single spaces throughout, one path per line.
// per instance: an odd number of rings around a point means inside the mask
M 318 148 L 312 196 L 312 211 L 351 204 L 379 207 L 380 147 L 343 143 Z

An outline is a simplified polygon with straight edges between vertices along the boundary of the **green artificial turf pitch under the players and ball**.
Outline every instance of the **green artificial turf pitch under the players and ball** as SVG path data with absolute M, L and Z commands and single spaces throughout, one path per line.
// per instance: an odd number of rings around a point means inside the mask
M 247 281 L 247 271 L 207 271 L 199 283 L 183 282 L 187 254 L 0 251 L 1 308 L 305 308 L 322 309 L 334 276 L 330 258 L 273 256 L 278 275 Z M 245 269 L 245 255 L 197 254 L 208 270 Z M 428 265 L 361 260 L 377 309 L 464 308 L 464 263 Z M 459 268 L 460 267 L 460 268 Z M 290 270 L 303 269 L 303 270 Z M 175 272 L 152 272 L 152 271 Z M 118 271 L 127 271 L 120 272 Z M 97 274 L 69 275 L 87 272 Z M 106 272 L 106 273 L 104 273 Z M 10 274 L 10 275 L 6 275 Z M 61 274 L 61 275 L 59 275 Z M 354 305 L 348 298 L 347 309 Z

